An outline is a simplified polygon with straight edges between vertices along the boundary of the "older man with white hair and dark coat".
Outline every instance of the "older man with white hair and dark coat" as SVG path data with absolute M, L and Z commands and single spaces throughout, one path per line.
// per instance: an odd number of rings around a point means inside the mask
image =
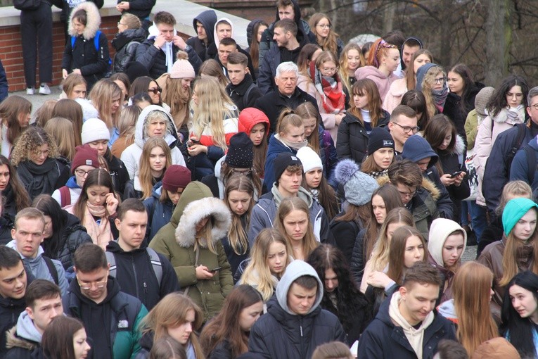
M 301 103 L 310 102 L 319 111 L 316 99 L 297 87 L 299 68 L 291 61 L 281 63 L 276 68 L 274 82 L 276 90 L 257 99 L 254 107 L 263 111 L 269 118 L 269 132 L 273 133 L 278 115 L 284 108 L 295 109 Z

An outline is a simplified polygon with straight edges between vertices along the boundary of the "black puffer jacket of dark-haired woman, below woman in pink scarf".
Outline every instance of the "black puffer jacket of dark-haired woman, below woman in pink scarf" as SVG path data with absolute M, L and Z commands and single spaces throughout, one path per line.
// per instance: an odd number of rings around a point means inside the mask
M 58 248 L 56 253 L 46 253 L 46 256 L 60 260 L 63 269 L 67 270 L 73 265 L 72 256 L 75 254 L 77 248 L 83 243 L 92 243 L 92 241 L 86 232 L 86 228 L 80 225 L 80 220 L 75 215 L 67 213 L 65 210 L 63 210 L 63 213 L 67 215 L 67 222 L 60 237 L 60 243 L 63 245 Z

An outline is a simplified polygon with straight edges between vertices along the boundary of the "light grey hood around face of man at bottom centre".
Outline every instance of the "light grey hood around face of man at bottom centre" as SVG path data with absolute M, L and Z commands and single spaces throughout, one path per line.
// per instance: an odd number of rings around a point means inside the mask
M 290 286 L 293 284 L 295 279 L 302 277 L 303 275 L 312 276 L 318 281 L 316 301 L 314 301 L 314 305 L 312 308 L 310 308 L 308 313 L 312 313 L 312 311 L 319 306 L 319 303 L 321 303 L 321 299 L 324 296 L 324 284 L 321 283 L 321 279 L 319 279 L 318 274 L 312 265 L 309 265 L 303 260 L 293 260 L 293 262 L 286 267 L 284 275 L 276 286 L 276 299 L 278 300 L 278 304 L 280 304 L 282 309 L 286 310 L 286 313 L 288 314 L 297 315 L 288 308 L 288 291 L 290 290 Z

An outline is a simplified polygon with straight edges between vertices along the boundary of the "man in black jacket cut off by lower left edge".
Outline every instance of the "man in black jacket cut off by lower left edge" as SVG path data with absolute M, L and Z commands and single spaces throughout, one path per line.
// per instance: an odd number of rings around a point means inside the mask
M 27 276 L 19 253 L 0 246 L 0 358 L 6 354 L 6 332 L 26 308 Z

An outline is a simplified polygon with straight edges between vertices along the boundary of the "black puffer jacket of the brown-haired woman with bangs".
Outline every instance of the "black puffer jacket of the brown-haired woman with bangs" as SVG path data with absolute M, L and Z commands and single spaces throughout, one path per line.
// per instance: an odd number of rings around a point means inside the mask
M 383 110 L 383 117 L 378 120 L 377 127 L 385 127 L 390 121 L 390 113 Z M 368 149 L 369 135 L 366 133 L 364 125 L 351 113 L 347 113 L 338 126 L 336 138 L 336 154 L 338 160 L 351 158 L 357 163 L 361 163 L 366 157 Z

